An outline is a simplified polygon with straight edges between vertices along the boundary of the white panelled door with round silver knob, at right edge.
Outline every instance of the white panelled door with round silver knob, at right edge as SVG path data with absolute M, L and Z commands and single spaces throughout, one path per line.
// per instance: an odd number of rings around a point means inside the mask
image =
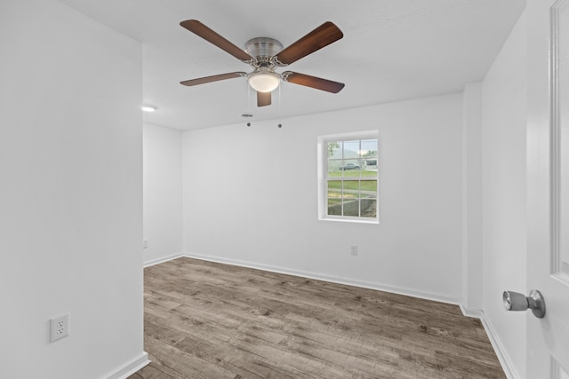
M 527 0 L 527 378 L 569 379 L 569 0 Z M 530 289 L 528 288 L 528 289 Z

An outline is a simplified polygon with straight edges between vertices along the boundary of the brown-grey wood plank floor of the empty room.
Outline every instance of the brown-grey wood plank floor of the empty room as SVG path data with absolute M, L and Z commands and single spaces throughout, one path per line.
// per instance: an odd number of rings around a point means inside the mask
M 144 275 L 130 379 L 506 377 L 456 305 L 190 258 Z

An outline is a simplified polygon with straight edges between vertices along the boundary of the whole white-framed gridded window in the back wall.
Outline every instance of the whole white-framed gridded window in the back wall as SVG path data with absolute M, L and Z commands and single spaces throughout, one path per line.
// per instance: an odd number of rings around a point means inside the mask
M 319 138 L 320 218 L 378 222 L 377 134 Z

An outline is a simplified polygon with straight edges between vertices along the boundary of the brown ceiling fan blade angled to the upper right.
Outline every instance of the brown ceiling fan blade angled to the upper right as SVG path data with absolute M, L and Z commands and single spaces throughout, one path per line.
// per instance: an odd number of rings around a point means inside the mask
M 338 41 L 343 36 L 341 30 L 333 22 L 327 21 L 276 54 L 276 63 L 279 66 L 290 65 L 330 43 Z

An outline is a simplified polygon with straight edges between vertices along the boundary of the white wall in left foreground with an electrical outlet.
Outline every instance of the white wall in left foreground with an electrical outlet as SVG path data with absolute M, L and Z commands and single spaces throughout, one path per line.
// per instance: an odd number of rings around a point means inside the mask
M 3 0 L 0 46 L 0 377 L 108 377 L 146 360 L 140 44 Z

